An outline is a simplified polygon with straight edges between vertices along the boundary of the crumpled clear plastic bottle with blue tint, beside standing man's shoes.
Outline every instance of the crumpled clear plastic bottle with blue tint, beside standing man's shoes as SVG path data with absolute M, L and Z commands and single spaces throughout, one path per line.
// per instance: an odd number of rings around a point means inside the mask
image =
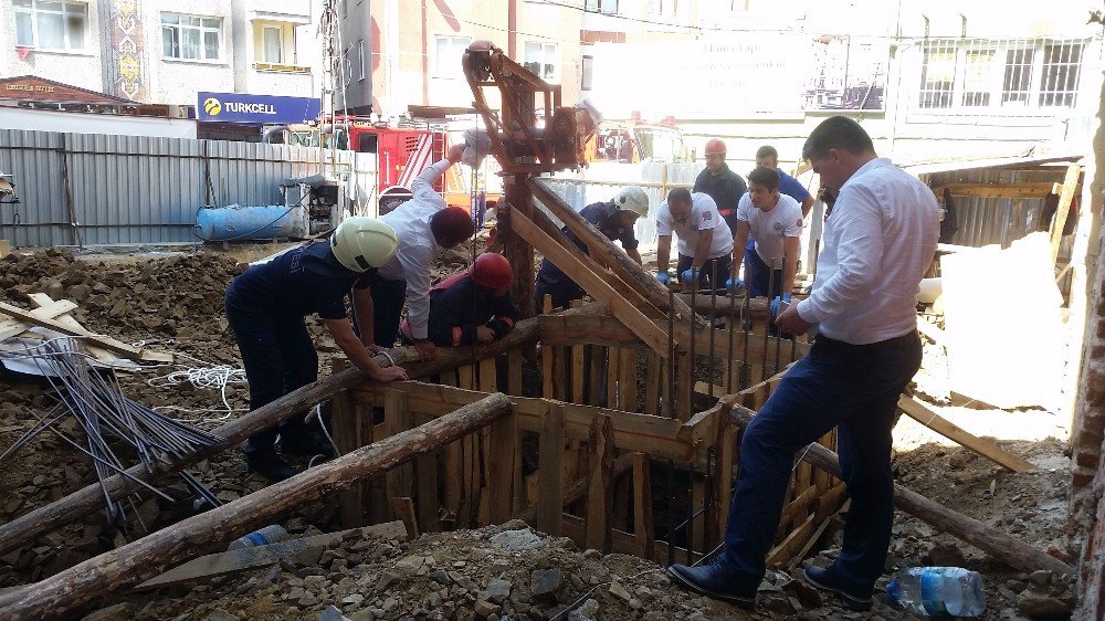
M 920 615 L 978 617 L 986 610 L 982 577 L 959 567 L 912 567 L 886 586 L 902 608 Z

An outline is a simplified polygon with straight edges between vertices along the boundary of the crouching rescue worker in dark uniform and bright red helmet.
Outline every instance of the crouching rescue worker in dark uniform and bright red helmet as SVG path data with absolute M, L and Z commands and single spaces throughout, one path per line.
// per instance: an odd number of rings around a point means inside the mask
M 491 343 L 514 328 L 522 312 L 511 298 L 514 271 L 502 254 L 485 252 L 471 270 L 453 274 L 430 290 L 428 335 L 438 347 Z M 406 319 L 403 339 L 412 340 Z

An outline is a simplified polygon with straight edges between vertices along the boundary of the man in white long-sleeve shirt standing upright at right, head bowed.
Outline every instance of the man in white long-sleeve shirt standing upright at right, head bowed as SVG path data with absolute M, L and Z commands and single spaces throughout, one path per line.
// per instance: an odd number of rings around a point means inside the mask
M 836 428 L 852 504 L 840 557 L 828 568 L 807 567 L 806 578 L 867 610 L 890 546 L 891 429 L 898 396 L 920 367 L 915 296 L 936 252 L 939 208 L 924 183 L 878 158 L 850 118 L 825 119 L 802 156 L 836 202 L 813 291 L 776 325 L 791 334 L 817 325 L 819 334 L 745 430 L 725 550 L 709 565 L 669 572 L 697 592 L 754 606 L 793 459 Z

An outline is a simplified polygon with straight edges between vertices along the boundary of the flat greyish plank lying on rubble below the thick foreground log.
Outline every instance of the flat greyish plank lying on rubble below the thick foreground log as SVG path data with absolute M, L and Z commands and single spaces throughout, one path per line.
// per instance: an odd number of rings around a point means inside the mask
M 136 589 L 146 590 L 156 587 L 167 587 L 169 585 L 191 582 L 213 576 L 253 569 L 255 567 L 276 565 L 281 559 L 288 558 L 301 550 L 313 546 L 328 546 L 347 537 L 378 537 L 385 540 L 406 539 L 407 528 L 402 522 L 389 522 L 364 528 L 350 528 L 337 533 L 323 533 L 322 535 L 313 535 L 311 537 L 277 541 L 267 546 L 210 554 L 173 567 L 156 578 L 150 578 L 138 585 Z

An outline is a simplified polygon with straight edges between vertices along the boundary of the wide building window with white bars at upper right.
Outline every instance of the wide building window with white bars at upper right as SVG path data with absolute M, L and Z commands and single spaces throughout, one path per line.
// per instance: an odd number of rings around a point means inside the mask
M 1073 108 L 1085 45 L 1054 39 L 929 41 L 917 107 L 951 114 Z

